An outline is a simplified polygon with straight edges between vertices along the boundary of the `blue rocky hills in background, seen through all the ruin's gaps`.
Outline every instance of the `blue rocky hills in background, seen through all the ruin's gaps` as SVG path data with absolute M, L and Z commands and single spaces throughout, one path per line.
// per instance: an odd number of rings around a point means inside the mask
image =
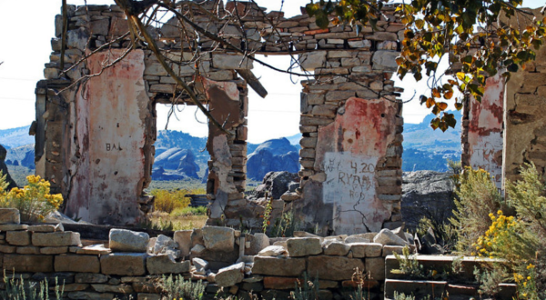
M 460 160 L 460 112 L 454 112 L 456 127 L 443 133 L 432 130 L 427 115 L 420 124 L 404 125 L 403 171 L 449 170 L 447 160 Z M 0 130 L 0 145 L 7 149 L 6 163 L 34 166 L 34 136 L 28 127 Z M 298 172 L 298 150 L 301 135 L 248 144 L 248 178 L 261 181 L 270 171 Z M 157 132 L 155 178 L 203 178 L 209 155 L 207 138 L 174 130 Z M 167 179 L 168 178 L 168 179 Z

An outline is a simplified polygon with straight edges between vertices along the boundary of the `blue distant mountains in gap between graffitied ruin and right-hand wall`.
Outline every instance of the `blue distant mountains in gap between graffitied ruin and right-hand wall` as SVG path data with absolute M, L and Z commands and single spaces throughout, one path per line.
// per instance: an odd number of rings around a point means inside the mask
M 433 130 L 430 120 L 434 115 L 427 115 L 420 124 L 404 125 L 404 153 L 402 155 L 402 171 L 433 170 L 445 172 L 449 170 L 447 160 L 460 161 L 460 111 L 451 111 L 455 115 L 457 125 L 446 132 Z

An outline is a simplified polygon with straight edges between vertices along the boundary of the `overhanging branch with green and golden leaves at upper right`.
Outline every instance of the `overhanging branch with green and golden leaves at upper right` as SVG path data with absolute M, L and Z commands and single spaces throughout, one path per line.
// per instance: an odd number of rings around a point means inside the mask
M 376 30 L 383 21 L 382 0 L 320 0 L 306 6 L 321 28 L 352 25 L 359 32 L 364 25 Z M 404 25 L 404 39 L 396 62 L 402 79 L 411 74 L 418 82 L 423 73 L 430 76 L 430 95 L 420 103 L 436 115 L 430 125 L 446 131 L 456 120 L 446 112 L 448 102 L 460 110 L 470 96 L 481 101 L 487 77 L 525 69 L 533 61 L 546 35 L 546 18 L 521 9 L 522 0 L 413 0 L 397 6 Z M 504 22 L 502 22 L 504 21 Z M 449 56 L 449 71 L 455 78 L 440 80 L 439 61 Z M 460 70 L 456 70 L 460 69 Z M 459 72 L 457 72 L 459 71 Z M 460 91 L 462 96 L 455 96 Z

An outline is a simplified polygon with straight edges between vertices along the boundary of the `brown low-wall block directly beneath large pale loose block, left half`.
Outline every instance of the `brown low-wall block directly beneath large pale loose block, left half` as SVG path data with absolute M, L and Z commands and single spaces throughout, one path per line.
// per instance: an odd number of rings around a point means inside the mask
M 100 267 L 106 275 L 137 276 L 146 274 L 146 257 L 143 253 L 113 253 L 100 257 Z

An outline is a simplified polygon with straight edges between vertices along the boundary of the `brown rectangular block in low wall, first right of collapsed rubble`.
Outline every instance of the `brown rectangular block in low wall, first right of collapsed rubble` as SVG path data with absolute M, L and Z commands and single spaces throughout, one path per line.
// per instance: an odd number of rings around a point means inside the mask
M 305 258 L 276 258 L 256 256 L 252 274 L 299 276 L 305 271 Z

